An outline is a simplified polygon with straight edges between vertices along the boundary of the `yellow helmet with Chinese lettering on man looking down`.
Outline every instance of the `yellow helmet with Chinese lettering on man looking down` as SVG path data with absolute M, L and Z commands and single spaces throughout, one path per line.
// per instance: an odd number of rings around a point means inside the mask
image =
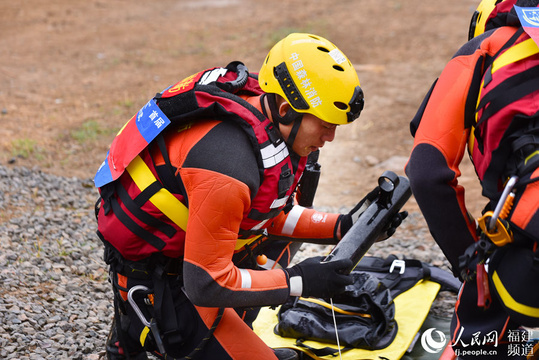
M 258 82 L 264 92 L 282 96 L 296 112 L 332 124 L 354 121 L 364 105 L 352 63 L 334 44 L 317 35 L 293 33 L 275 44 Z

